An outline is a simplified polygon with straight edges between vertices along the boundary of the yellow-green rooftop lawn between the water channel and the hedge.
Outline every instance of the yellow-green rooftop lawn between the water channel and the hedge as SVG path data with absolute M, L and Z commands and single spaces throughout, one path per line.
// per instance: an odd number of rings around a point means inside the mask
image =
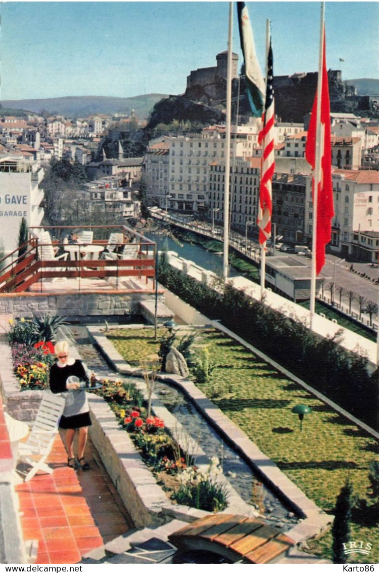
M 158 339 L 163 333 L 165 329 L 158 329 Z M 158 349 L 153 328 L 117 329 L 107 336 L 129 363 L 138 364 L 141 356 Z M 201 390 L 320 508 L 333 510 L 347 479 L 355 494 L 372 503 L 368 468 L 377 459 L 377 442 L 369 434 L 222 333 L 202 329 L 196 346 L 208 347 L 217 364 L 212 381 Z M 302 431 L 291 411 L 299 403 L 312 408 Z M 377 562 L 378 528 L 353 528 L 352 539 L 373 544 L 370 558 L 356 554 L 354 562 Z M 331 545 L 328 534 L 312 543 L 312 549 L 330 558 Z

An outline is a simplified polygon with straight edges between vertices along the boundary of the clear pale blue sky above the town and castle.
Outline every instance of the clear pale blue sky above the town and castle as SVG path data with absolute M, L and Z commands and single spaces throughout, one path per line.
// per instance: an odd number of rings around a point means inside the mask
M 262 69 L 269 18 L 274 74 L 317 70 L 320 2 L 247 5 Z M 229 2 L 1 2 L 0 98 L 182 93 L 228 48 L 228 13 Z M 233 19 L 240 66 L 235 7 Z M 379 3 L 326 2 L 325 22 L 328 68 L 377 79 Z

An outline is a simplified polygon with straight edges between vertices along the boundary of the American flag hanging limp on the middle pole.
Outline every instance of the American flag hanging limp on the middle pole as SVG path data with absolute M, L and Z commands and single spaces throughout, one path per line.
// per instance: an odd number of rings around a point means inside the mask
M 275 171 L 274 156 L 274 88 L 273 88 L 273 52 L 270 41 L 267 66 L 267 85 L 265 111 L 262 115 L 262 129 L 258 143 L 262 144 L 260 205 L 258 208 L 258 227 L 260 244 L 271 237 L 272 217 L 272 178 Z

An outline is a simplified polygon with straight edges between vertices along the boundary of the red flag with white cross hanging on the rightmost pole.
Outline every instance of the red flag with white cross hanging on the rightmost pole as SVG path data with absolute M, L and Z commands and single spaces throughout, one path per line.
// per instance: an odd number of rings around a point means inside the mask
M 332 185 L 332 146 L 330 144 L 330 100 L 328 86 L 328 71 L 325 57 L 325 28 L 324 53 L 322 56 L 322 91 L 321 91 L 321 180 L 318 184 L 317 195 L 317 226 L 316 226 L 316 275 L 320 274 L 325 264 L 325 246 L 332 240 L 333 185 Z M 310 116 L 308 136 L 306 138 L 305 158 L 312 167 L 316 166 L 316 135 L 317 135 L 317 92 L 314 98 L 312 115 Z M 314 202 L 314 176 L 312 193 Z

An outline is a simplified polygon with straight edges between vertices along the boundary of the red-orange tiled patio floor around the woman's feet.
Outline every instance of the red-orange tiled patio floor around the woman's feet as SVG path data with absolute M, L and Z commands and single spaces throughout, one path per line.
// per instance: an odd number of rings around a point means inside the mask
M 62 439 L 47 460 L 52 474 L 38 473 L 16 486 L 24 541 L 38 540 L 35 563 L 78 563 L 88 551 L 133 527 L 91 442 L 91 469 L 67 467 Z

